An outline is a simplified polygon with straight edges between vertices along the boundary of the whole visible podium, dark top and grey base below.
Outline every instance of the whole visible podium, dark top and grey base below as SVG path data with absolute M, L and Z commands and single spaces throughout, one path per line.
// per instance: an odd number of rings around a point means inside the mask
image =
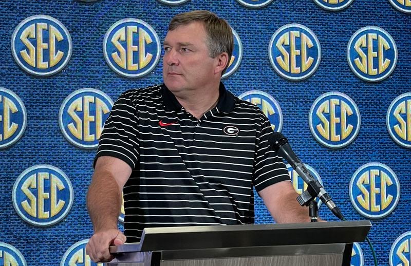
M 110 246 L 108 266 L 349 266 L 370 221 L 152 227 Z

